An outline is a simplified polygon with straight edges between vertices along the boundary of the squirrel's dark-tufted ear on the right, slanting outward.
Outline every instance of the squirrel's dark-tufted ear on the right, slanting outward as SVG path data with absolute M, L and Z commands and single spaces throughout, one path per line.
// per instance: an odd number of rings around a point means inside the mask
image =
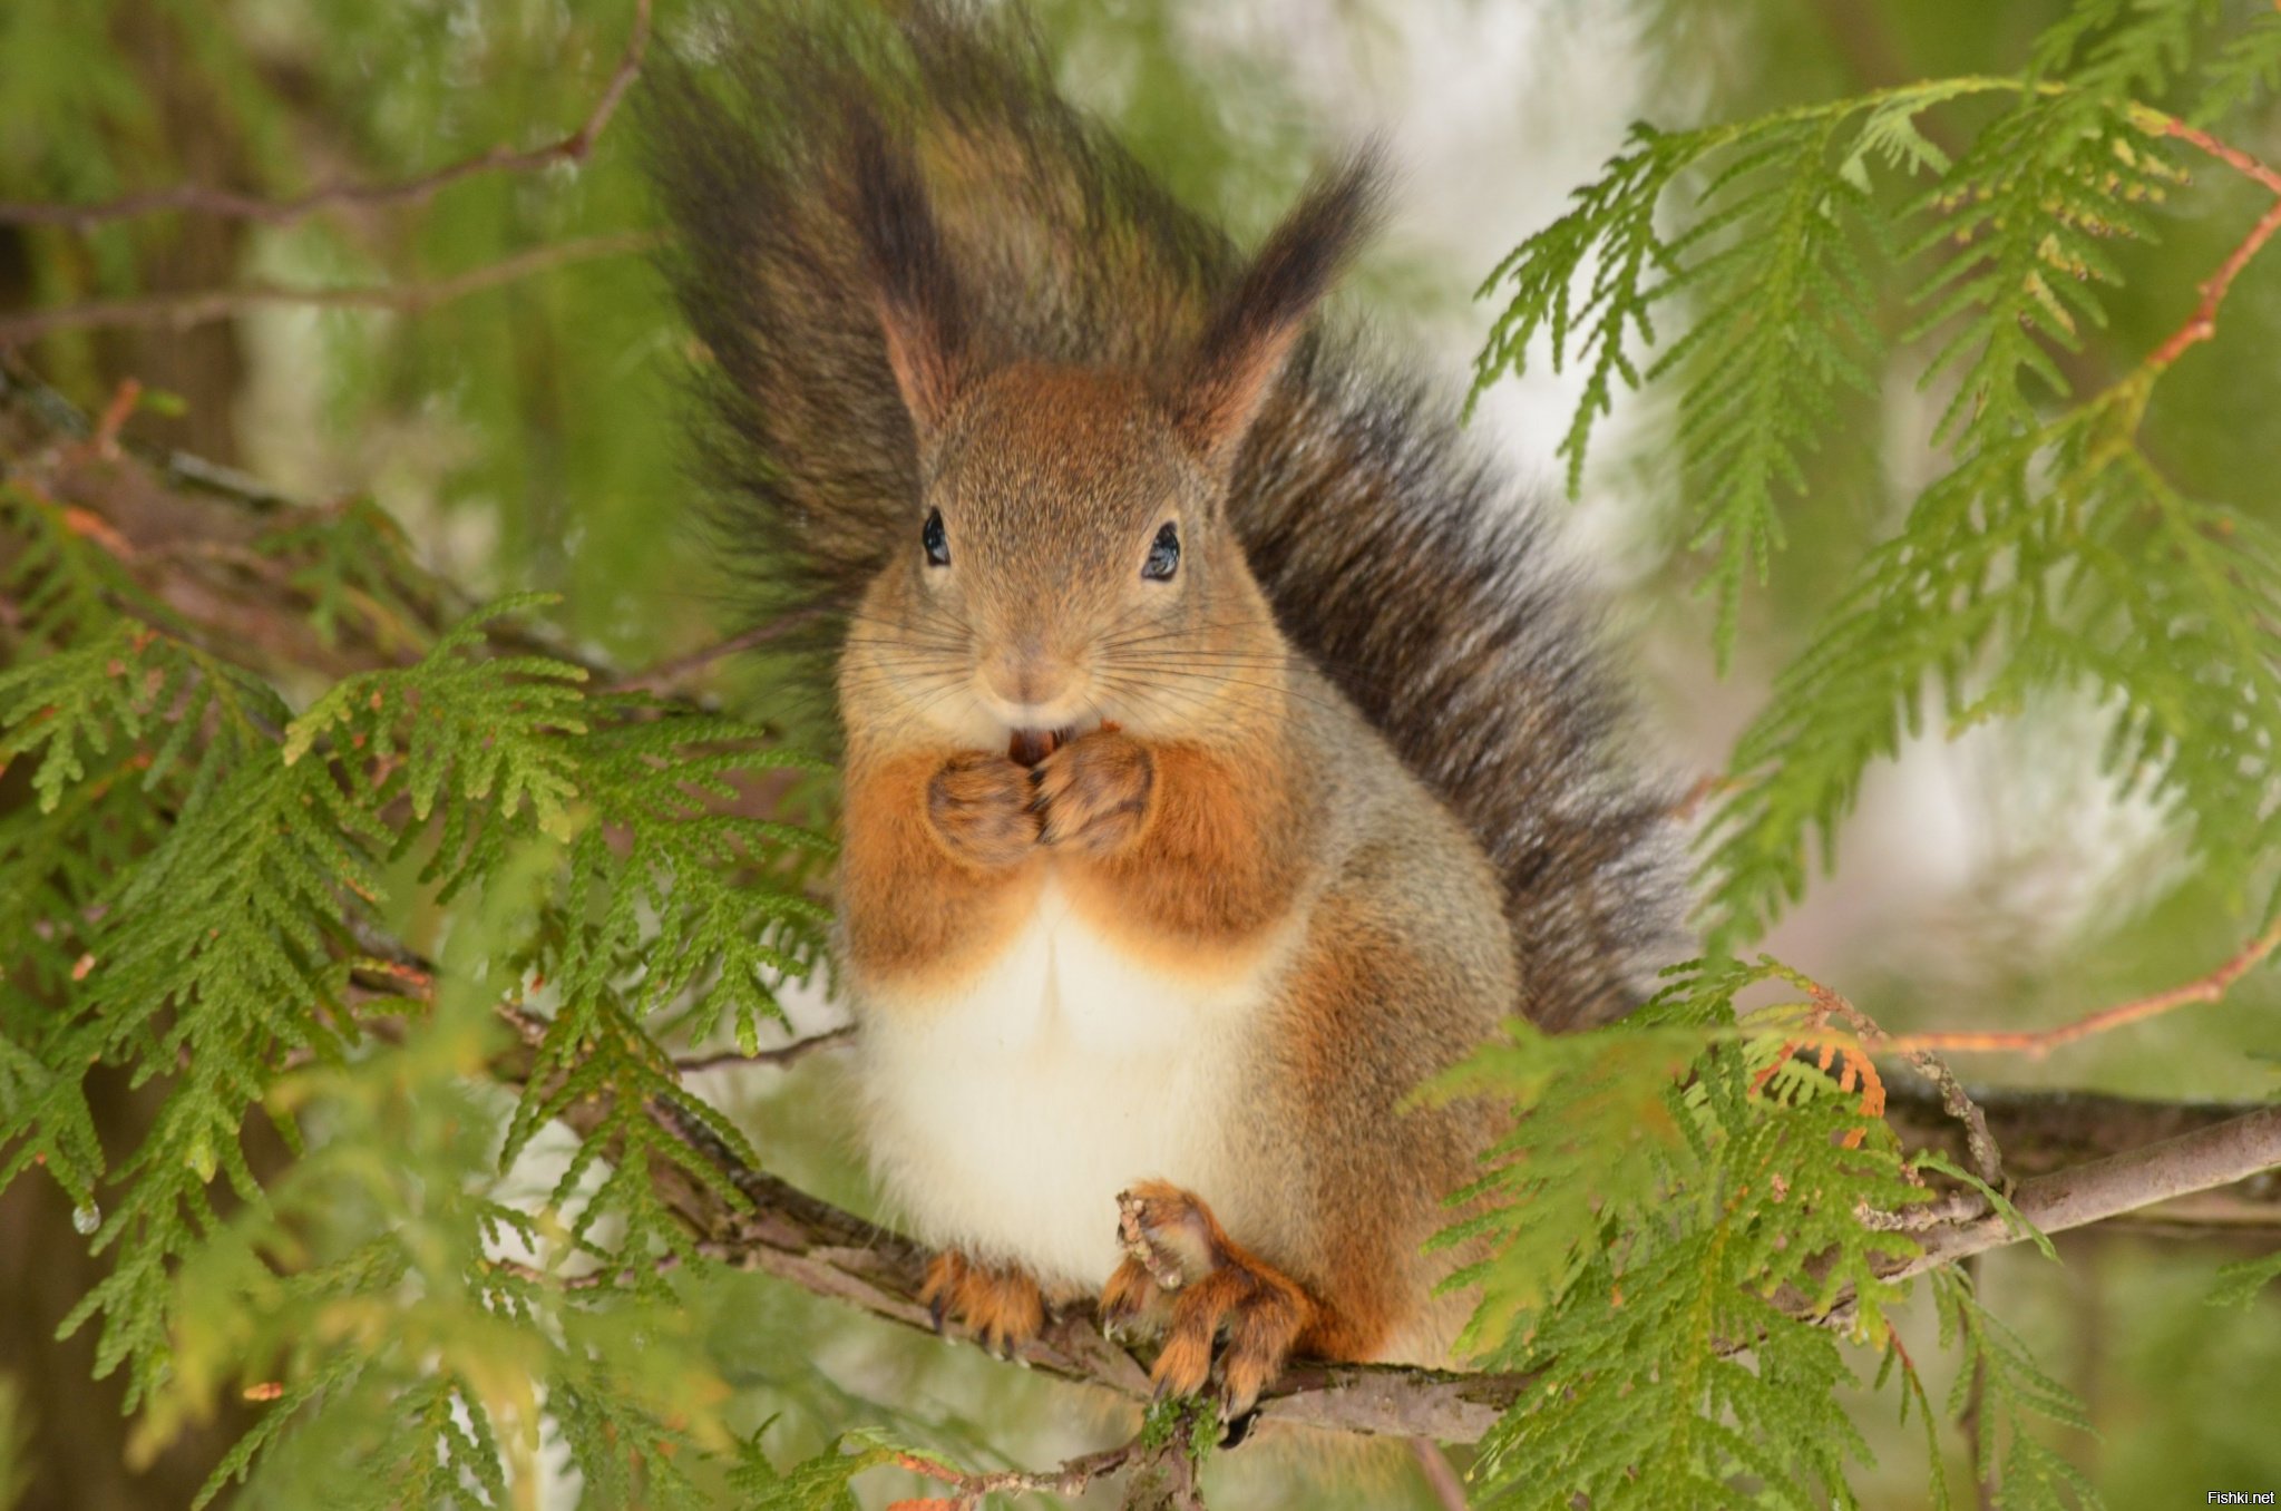
M 1213 308 L 1172 390 L 1172 420 L 1209 461 L 1234 456 L 1316 301 L 1378 221 L 1378 151 L 1321 173 Z

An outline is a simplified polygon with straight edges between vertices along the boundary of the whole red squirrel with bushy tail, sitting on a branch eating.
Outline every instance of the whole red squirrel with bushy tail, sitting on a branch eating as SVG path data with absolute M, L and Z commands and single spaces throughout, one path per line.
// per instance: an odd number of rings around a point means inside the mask
M 1318 313 L 1378 157 L 1241 256 L 942 0 L 771 7 L 646 142 L 721 539 L 837 651 L 835 956 L 937 1326 L 1095 1294 L 1229 1420 L 1293 1354 L 1442 1363 L 1494 1123 L 1410 1093 L 1645 1000 L 1679 870 L 1531 495 Z

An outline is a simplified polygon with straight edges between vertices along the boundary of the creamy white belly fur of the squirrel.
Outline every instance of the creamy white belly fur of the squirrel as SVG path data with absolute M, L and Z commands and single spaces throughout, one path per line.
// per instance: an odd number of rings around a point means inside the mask
M 1293 936 L 1239 979 L 1188 981 L 1099 938 L 1047 881 L 979 979 L 874 995 L 858 1075 L 901 1219 L 1065 1287 L 1115 1269 L 1115 1196 L 1134 1180 L 1172 1180 L 1241 1226 L 1225 1102 Z

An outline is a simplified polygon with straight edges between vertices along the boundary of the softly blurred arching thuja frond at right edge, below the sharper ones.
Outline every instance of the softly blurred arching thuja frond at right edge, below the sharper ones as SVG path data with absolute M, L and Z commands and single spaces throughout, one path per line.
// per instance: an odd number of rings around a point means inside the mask
M 2144 381 L 2144 379 L 2142 379 Z M 2089 694 L 2105 767 L 2169 806 L 2213 879 L 2245 888 L 2281 838 L 2281 541 L 2187 500 L 2130 443 L 2142 388 L 1937 482 L 1870 552 L 1734 751 L 1708 829 L 1715 934 L 1743 938 L 1832 856 L 1864 767 L 1921 728 Z M 1779 769 L 1777 769 L 1779 767 Z

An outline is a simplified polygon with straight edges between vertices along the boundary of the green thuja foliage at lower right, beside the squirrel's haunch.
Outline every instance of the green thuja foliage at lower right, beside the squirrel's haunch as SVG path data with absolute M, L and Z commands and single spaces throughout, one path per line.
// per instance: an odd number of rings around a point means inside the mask
M 1480 1445 L 1478 1504 L 1852 1504 L 1848 1461 L 1868 1449 L 1838 1404 L 1843 1342 L 1882 1354 L 1882 1379 L 1898 1363 L 1905 1411 L 1925 1408 L 1886 1317 L 1907 1294 L 1886 1271 L 1916 1253 L 1898 1228 L 1930 1201 L 1921 1164 L 1875 1116 L 1861 1050 L 1827 1070 L 1850 1041 L 1813 1002 L 1734 1020 L 1736 993 L 1775 979 L 1793 977 L 1690 965 L 1635 1023 L 1519 1025 L 1437 1089 L 1519 1107 L 1439 1239 L 1474 1258 L 1451 1278 L 1483 1294 L 1467 1347 L 1535 1376 Z M 1825 1068 L 1804 1043 L 1832 1048 Z M 2003 1335 L 1962 1342 L 2023 1408 L 2057 1399 Z M 2005 1504 L 2046 1504 L 2039 1452 L 2019 1449 Z

